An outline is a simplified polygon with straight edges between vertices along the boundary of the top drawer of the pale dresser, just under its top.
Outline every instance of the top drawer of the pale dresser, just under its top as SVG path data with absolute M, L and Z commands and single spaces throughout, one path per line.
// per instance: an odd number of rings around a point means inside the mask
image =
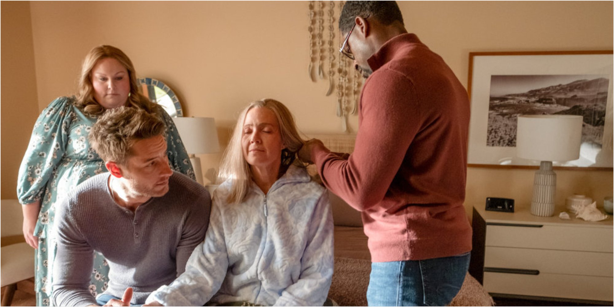
M 486 246 L 613 252 L 612 228 L 486 224 Z

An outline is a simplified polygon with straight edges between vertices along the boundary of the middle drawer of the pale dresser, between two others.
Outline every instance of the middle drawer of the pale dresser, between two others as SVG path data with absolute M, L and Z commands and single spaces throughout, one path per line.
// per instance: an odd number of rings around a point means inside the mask
M 557 251 L 487 246 L 484 270 L 511 268 L 543 273 L 602 276 L 612 278 L 614 254 L 607 252 Z

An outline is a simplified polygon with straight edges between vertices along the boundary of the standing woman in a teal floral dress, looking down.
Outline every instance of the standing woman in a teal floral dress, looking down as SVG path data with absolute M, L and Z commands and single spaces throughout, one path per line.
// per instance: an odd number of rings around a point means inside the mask
M 87 141 L 98 115 L 119 106 L 140 107 L 158 114 L 168 130 L 171 168 L 194 178 L 173 120 L 138 88 L 134 66 L 122 50 L 109 45 L 95 47 L 85 57 L 77 95 L 55 99 L 34 124 L 19 169 L 17 195 L 23 204 L 24 236 L 36 249 L 34 289 L 38 306 L 49 306 L 52 290 L 55 204 L 80 182 L 107 171 Z M 106 290 L 108 270 L 102 255 L 96 254 L 90 284 L 93 295 Z

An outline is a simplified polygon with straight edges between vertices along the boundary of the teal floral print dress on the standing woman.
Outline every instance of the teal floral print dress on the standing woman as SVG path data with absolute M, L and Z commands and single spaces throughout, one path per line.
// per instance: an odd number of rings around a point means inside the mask
M 88 134 L 95 116 L 84 114 L 74 106 L 74 97 L 55 99 L 42 111 L 34 124 L 28 149 L 21 161 L 17 179 L 17 196 L 21 204 L 41 201 L 34 235 L 39 238 L 34 260 L 36 304 L 49 306 L 51 295 L 55 238 L 53 217 L 55 204 L 71 188 L 86 179 L 107 171 L 103 160 L 90 146 Z M 167 126 L 166 142 L 169 165 L 175 171 L 195 178 L 173 120 L 163 112 Z M 95 254 L 90 292 L 96 296 L 107 288 L 109 266 L 101 254 Z

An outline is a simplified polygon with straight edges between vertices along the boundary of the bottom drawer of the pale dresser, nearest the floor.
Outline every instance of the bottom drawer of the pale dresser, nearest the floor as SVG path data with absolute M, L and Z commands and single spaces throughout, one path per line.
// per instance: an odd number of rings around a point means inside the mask
M 612 286 L 611 277 L 484 272 L 484 289 L 491 293 L 612 301 Z

